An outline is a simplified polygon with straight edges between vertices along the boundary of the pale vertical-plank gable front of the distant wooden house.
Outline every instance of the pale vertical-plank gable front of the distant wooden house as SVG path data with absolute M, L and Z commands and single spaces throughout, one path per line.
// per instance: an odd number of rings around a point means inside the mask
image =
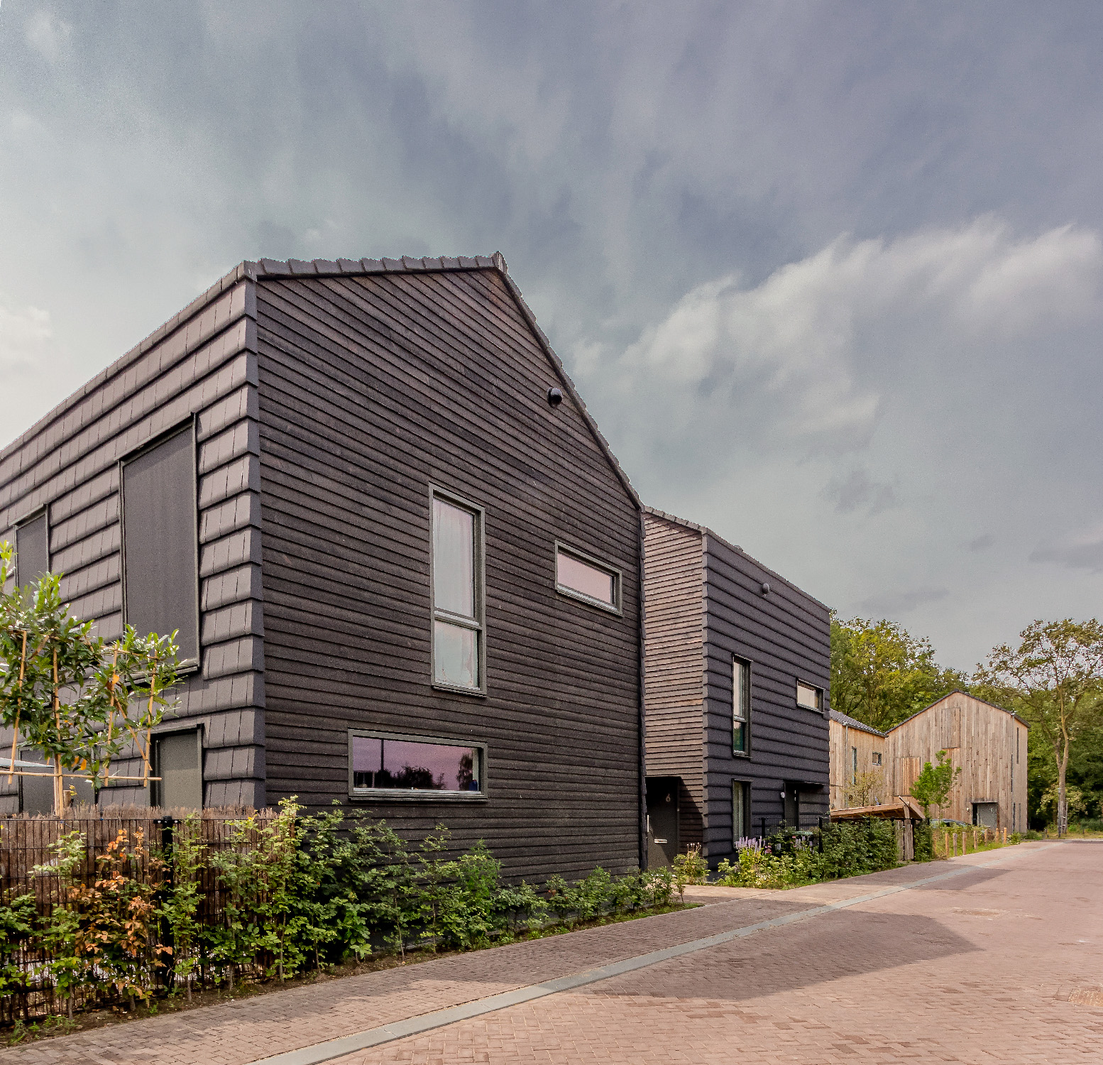
M 999 828 L 1024 831 L 1027 735 L 1026 724 L 1014 714 L 952 692 L 889 731 L 886 773 L 898 789 L 893 794 L 907 794 L 923 764 L 934 764 L 939 750 L 947 750 L 962 773 L 939 816 L 972 822 L 974 802 L 997 802 Z

